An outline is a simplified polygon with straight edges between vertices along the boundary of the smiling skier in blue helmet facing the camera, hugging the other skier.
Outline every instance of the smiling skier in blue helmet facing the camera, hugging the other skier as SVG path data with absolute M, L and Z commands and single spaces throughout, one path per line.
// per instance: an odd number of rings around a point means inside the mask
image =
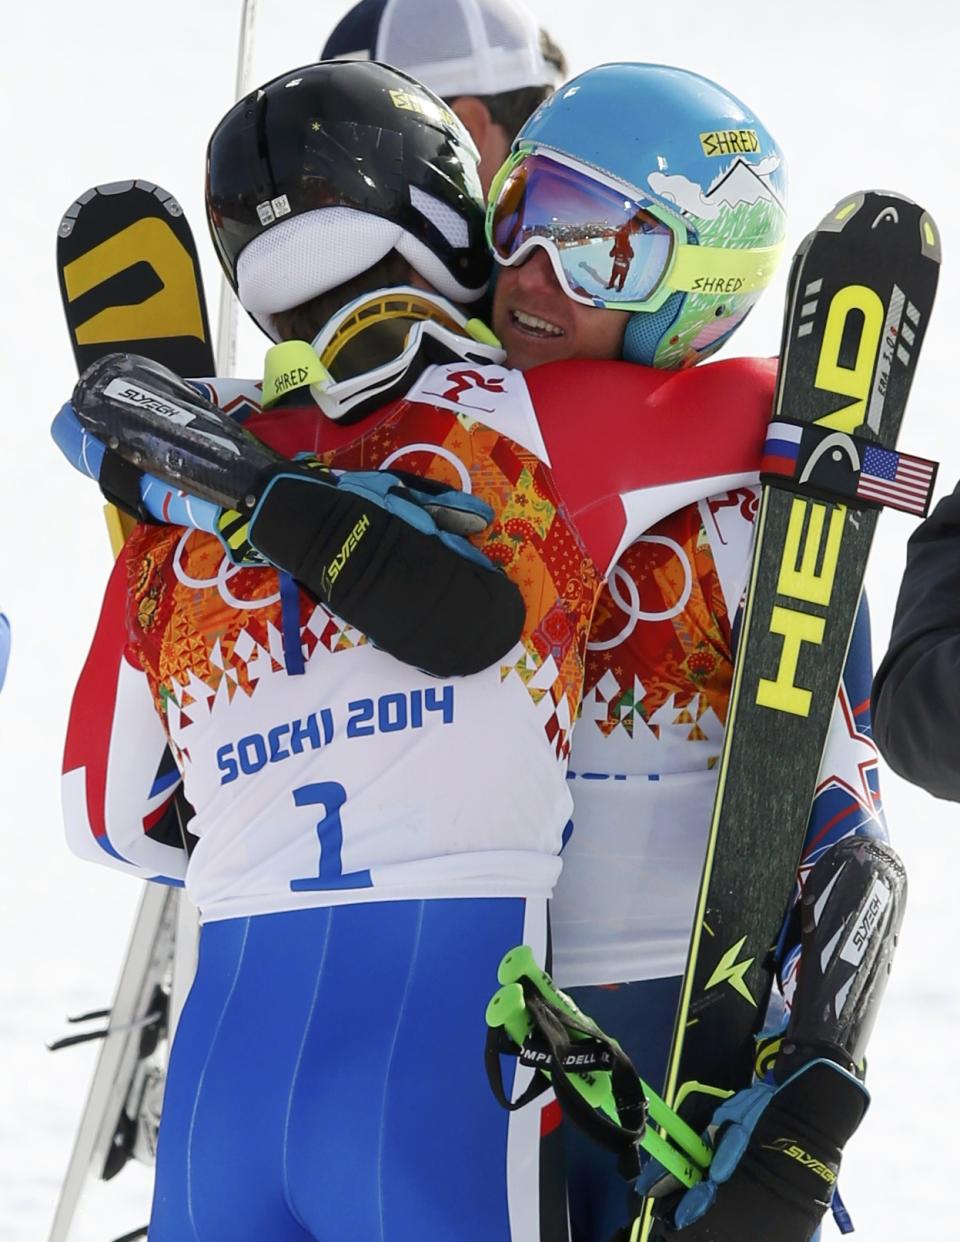
M 571 243 L 579 220 L 601 217 L 605 190 L 611 224 L 628 215 L 630 194 L 636 205 L 646 194 L 646 204 L 652 200 L 661 211 L 682 209 L 683 226 L 700 242 L 725 230 L 733 245 L 755 243 L 764 212 L 769 220 L 781 219 L 784 170 L 758 118 L 728 101 L 720 127 L 719 107 L 712 116 L 699 111 L 710 99 L 709 88 L 691 92 L 692 76 L 661 73 L 663 78 L 650 67 L 607 66 L 577 79 L 579 89 L 560 91 L 523 127 L 512 160 L 494 183 L 488 237 L 504 266 L 496 284 L 493 327 L 507 360 L 529 378 L 540 365 L 571 356 L 688 368 L 724 344 L 756 301 L 756 291 L 722 297 L 674 292 L 658 308 L 638 310 L 631 303 L 643 292 L 638 282 L 646 252 L 625 289 L 611 293 L 601 279 L 605 268 L 594 258 L 599 243 L 582 236 Z M 664 97 L 672 118 L 668 133 L 658 111 Z M 628 134 L 609 123 L 627 114 Z M 754 154 L 744 154 L 748 148 Z M 718 159 L 720 153 L 725 158 Z M 594 206 L 586 210 L 591 194 Z M 656 230 L 650 215 L 633 219 L 643 221 L 645 233 Z M 770 233 L 780 236 L 776 225 Z M 640 236 L 635 243 L 646 241 Z M 606 309 L 595 309 L 599 304 Z M 646 530 L 609 575 L 587 642 L 581 719 L 568 769 L 574 816 L 550 912 L 553 974 L 653 1084 L 663 1079 L 697 903 L 758 499 L 758 482 L 750 479 L 698 498 Z M 847 842 L 846 851 L 854 848 L 852 838 L 885 840 L 869 681 L 864 604 L 817 779 L 797 900 L 815 864 L 822 859 L 826 876 L 840 864 L 842 853 L 832 852 L 838 842 Z M 895 879 L 884 883 L 898 891 Z M 852 918 L 858 899 L 845 892 L 832 914 Z M 890 939 L 889 929 L 884 934 Z M 764 1041 L 774 1049 L 771 1040 L 787 1021 L 800 963 L 795 910 L 777 946 L 781 991 Z M 854 1023 L 861 1042 L 876 1001 L 867 1006 L 869 1016 Z M 841 1069 L 851 1068 L 848 1051 L 835 1048 L 833 1054 Z M 763 1067 L 770 1084 L 774 1071 L 784 1082 L 805 1057 L 812 1059 L 810 1048 L 792 1061 L 781 1057 L 775 1067 L 768 1056 Z M 840 1094 L 848 1093 L 858 1119 L 859 1088 L 837 1077 Z M 804 1107 L 816 1115 L 811 1099 Z M 574 1237 L 607 1242 L 630 1211 L 616 1160 L 569 1126 L 565 1140 Z M 763 1220 L 777 1240 L 808 1237 L 831 1199 L 830 1187 L 826 1191 L 813 1179 L 812 1195 L 810 1185 L 800 1189 L 799 1201 L 811 1196 L 806 1211 L 777 1225 L 777 1208 L 761 1206 L 761 1196 L 748 1196 L 745 1208 L 730 1207 L 739 1192 L 734 1187 L 724 1201 L 688 1203 L 678 1236 L 713 1238 L 710 1231 L 718 1230 L 715 1236 L 727 1238 L 723 1231 L 730 1230 L 730 1237 L 739 1237 L 739 1227 L 754 1237 Z M 842 1218 L 838 1201 L 835 1208 Z

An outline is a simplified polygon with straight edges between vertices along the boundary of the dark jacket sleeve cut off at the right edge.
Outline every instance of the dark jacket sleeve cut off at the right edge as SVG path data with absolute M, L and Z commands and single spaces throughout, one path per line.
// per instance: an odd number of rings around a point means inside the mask
M 905 780 L 960 801 L 960 484 L 907 545 L 873 737 Z

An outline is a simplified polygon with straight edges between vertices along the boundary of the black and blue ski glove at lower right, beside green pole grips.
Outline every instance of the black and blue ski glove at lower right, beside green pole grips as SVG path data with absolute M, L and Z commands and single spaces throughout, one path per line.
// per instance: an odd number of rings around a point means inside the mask
M 659 1197 L 652 1238 L 810 1242 L 868 1100 L 863 1084 L 831 1061 L 810 1062 L 781 1087 L 760 1083 L 733 1095 L 714 1113 L 714 1156 L 702 1182 L 671 1194 L 656 1164 L 638 1179 L 638 1194 Z

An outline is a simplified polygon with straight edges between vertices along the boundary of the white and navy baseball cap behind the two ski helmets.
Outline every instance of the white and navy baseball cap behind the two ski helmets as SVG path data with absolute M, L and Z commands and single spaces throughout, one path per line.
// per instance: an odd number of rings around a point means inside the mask
M 381 61 L 452 99 L 556 87 L 561 57 L 520 0 L 360 0 L 320 60 Z

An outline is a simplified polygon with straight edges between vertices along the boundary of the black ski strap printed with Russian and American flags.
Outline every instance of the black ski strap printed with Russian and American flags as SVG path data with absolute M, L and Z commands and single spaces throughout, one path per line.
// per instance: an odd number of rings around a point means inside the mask
M 760 482 L 854 509 L 930 508 L 938 463 L 884 448 L 821 422 L 775 419 L 768 430 Z

